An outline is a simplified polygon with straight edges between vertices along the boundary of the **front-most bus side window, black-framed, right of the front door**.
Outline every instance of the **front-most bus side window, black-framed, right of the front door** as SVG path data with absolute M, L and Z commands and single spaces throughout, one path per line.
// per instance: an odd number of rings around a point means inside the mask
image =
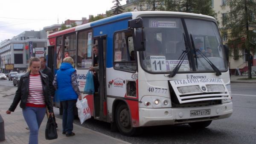
M 114 34 L 114 65 L 120 71 L 136 72 L 134 42 L 132 31 L 121 31 Z

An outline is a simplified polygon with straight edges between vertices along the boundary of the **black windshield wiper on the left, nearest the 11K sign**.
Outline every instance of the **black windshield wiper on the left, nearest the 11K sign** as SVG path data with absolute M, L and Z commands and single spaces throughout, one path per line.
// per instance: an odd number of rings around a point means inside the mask
M 180 69 L 180 66 L 182 65 L 184 59 L 186 58 L 186 55 L 188 54 L 189 52 L 189 48 L 188 48 L 188 43 L 186 41 L 186 37 L 185 37 L 185 34 L 183 33 L 183 37 L 184 37 L 184 42 L 185 42 L 185 47 L 186 47 L 186 50 L 183 50 L 183 52 L 181 53 L 180 57 L 178 58 L 179 63 L 176 65 L 176 67 L 172 70 L 172 72 L 168 75 L 169 77 L 173 77 L 177 74 L 177 72 L 179 71 Z

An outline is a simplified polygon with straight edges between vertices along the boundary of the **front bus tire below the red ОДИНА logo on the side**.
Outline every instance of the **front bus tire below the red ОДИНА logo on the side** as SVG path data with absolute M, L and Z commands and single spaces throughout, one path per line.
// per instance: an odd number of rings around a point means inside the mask
M 139 135 L 142 131 L 141 127 L 132 127 L 128 106 L 119 103 L 116 108 L 116 126 L 120 133 L 125 136 Z

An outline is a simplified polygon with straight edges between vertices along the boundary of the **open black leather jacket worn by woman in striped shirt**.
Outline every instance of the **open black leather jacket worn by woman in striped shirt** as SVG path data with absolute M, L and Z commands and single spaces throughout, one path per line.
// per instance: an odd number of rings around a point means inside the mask
M 48 76 L 45 75 L 44 73 L 41 73 L 41 71 L 39 71 L 39 73 L 41 75 L 41 80 L 43 85 L 45 104 L 49 110 L 49 113 L 52 113 L 53 112 L 52 99 L 51 99 L 50 90 L 49 90 Z M 12 112 L 14 112 L 19 102 L 20 102 L 21 108 L 26 107 L 26 102 L 29 94 L 29 74 L 30 72 L 20 77 L 18 89 L 15 93 L 15 97 L 13 99 L 12 105 L 9 108 L 9 110 Z

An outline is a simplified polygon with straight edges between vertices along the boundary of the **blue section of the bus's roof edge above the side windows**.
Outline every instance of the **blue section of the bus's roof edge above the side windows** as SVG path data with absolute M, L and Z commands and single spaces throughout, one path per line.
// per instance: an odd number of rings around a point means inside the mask
M 132 16 L 131 12 L 127 12 L 127 13 L 123 13 L 123 14 L 118 14 L 118 15 L 115 15 L 115 16 L 112 16 L 112 17 L 107 17 L 105 19 L 97 20 L 95 22 L 92 22 L 90 24 L 90 26 L 93 27 L 93 26 L 104 24 L 104 23 L 109 23 L 109 22 L 112 22 L 112 21 L 115 21 L 115 20 L 121 20 L 123 18 L 131 17 L 131 16 Z

